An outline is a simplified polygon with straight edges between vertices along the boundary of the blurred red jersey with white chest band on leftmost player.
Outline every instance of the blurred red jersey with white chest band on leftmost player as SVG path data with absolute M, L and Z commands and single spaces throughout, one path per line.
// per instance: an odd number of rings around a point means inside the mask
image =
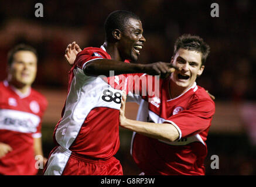
M 34 89 L 23 95 L 7 81 L 0 83 L 0 142 L 12 147 L 12 151 L 0 158 L 0 174 L 37 174 L 33 138 L 42 136 L 46 107 L 45 96 Z

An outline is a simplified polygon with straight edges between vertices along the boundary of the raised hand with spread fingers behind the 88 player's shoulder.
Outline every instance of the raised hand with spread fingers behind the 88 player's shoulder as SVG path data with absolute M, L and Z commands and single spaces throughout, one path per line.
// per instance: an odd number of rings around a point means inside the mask
M 64 57 L 66 58 L 67 62 L 70 65 L 74 64 L 74 61 L 76 60 L 76 56 L 80 51 L 81 51 L 80 46 L 76 43 L 76 41 L 73 41 L 72 43 L 67 45 Z

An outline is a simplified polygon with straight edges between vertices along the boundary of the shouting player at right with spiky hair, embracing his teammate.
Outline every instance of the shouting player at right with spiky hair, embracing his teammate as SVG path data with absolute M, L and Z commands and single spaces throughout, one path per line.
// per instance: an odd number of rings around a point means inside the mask
M 131 154 L 145 175 L 204 175 L 206 138 L 215 112 L 209 94 L 196 85 L 210 47 L 184 34 L 175 43 L 171 63 L 180 68 L 160 81 L 158 98 L 142 96 L 137 120 L 124 115 L 120 126 L 135 131 Z

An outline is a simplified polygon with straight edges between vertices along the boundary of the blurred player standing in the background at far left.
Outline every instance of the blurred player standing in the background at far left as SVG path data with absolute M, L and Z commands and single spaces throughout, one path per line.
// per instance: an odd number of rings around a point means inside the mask
M 33 47 L 19 44 L 9 51 L 8 77 L 0 83 L 1 175 L 36 175 L 46 162 L 41 123 L 47 101 L 31 88 L 36 71 L 37 53 Z

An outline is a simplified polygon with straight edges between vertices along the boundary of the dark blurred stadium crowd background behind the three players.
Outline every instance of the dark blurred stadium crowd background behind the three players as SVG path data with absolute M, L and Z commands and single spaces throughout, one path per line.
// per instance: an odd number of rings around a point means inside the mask
M 45 156 L 53 148 L 53 128 L 66 99 L 67 44 L 81 48 L 100 47 L 104 42 L 104 20 L 118 9 L 142 19 L 146 43 L 139 62 L 169 62 L 173 44 L 183 33 L 201 36 L 211 47 L 203 75 L 197 84 L 216 97 L 216 115 L 206 141 L 209 154 L 207 175 L 256 174 L 256 2 L 252 0 L 127 0 L 40 1 L 43 18 L 36 18 L 37 1 L 0 1 L 0 78 L 6 77 L 6 57 L 15 44 L 28 43 L 39 53 L 34 88 L 44 93 L 49 108 L 43 123 Z M 219 18 L 212 18 L 212 3 L 219 4 Z M 128 105 L 136 117 L 138 106 Z M 129 155 L 131 132 L 121 129 L 117 157 L 124 174 L 139 169 Z M 211 155 L 218 155 L 219 169 L 211 169 Z

